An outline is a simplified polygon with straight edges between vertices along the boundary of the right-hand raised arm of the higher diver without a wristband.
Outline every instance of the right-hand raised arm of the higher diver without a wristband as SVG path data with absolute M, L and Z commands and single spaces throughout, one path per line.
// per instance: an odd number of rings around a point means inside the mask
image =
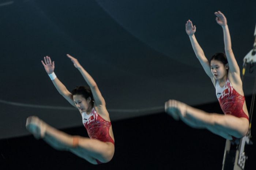
M 238 73 L 240 76 L 240 69 L 237 64 L 236 58 L 234 56 L 233 50 L 231 48 L 231 38 L 229 34 L 229 27 L 227 26 L 227 19 L 221 11 L 214 13 L 216 17 L 216 22 L 222 27 L 223 29 L 223 36 L 224 36 L 224 44 L 225 44 L 225 53 L 227 56 L 227 62 L 229 63 L 229 72 L 230 73 Z

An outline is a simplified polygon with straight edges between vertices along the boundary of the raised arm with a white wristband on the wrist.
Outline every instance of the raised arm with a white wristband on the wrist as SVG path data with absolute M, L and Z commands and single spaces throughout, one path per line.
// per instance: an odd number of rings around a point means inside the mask
M 59 91 L 59 93 L 74 107 L 76 107 L 71 92 L 67 90 L 63 83 L 55 76 L 54 73 L 54 61 L 52 62 L 51 58 L 46 56 L 44 57 L 44 61 L 41 60 L 42 64 L 44 65 L 45 71 L 50 75 L 52 79 L 52 83 Z

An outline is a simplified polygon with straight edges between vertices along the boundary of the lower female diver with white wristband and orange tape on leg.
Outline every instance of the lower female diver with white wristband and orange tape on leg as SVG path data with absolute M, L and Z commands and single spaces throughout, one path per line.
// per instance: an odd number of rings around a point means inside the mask
M 54 61 L 52 62 L 50 57 L 46 56 L 41 62 L 59 93 L 72 106 L 79 109 L 90 138 L 68 135 L 35 116 L 27 118 L 26 127 L 35 138 L 44 139 L 57 150 L 71 151 L 92 164 L 109 162 L 114 155 L 114 136 L 105 100 L 93 78 L 78 60 L 69 54 L 67 56 L 80 71 L 89 87 L 79 86 L 69 92 L 53 72 Z

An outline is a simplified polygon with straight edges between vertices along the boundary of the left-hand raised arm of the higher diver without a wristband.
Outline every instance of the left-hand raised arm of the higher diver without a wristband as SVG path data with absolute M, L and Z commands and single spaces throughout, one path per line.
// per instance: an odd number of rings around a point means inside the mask
M 196 37 L 195 37 L 195 32 L 196 32 L 196 26 L 193 26 L 193 23 L 191 22 L 191 20 L 188 20 L 186 23 L 186 32 L 189 36 L 191 45 L 193 47 L 193 50 L 196 54 L 196 57 L 198 58 L 198 60 L 200 61 L 201 65 L 203 66 L 204 71 L 206 72 L 206 74 L 212 79 L 214 79 L 214 76 L 211 73 L 211 67 L 209 64 L 209 61 L 207 60 L 206 56 L 204 55 L 204 51 L 203 49 L 200 47 L 200 45 L 198 44 Z

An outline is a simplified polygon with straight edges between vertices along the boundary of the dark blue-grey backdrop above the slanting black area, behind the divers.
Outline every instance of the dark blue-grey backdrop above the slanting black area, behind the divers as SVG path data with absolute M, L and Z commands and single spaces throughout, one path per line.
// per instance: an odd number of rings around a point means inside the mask
M 57 128 L 82 125 L 78 110 L 46 74 L 46 55 L 69 90 L 86 84 L 65 54 L 78 58 L 97 82 L 112 121 L 163 112 L 171 98 L 189 105 L 217 101 L 185 23 L 196 25 L 210 58 L 224 51 L 214 15 L 221 10 L 241 68 L 254 42 L 255 7 L 255 0 L 0 0 L 0 139 L 28 134 L 30 115 Z M 245 95 L 252 93 L 253 76 L 246 72 Z

